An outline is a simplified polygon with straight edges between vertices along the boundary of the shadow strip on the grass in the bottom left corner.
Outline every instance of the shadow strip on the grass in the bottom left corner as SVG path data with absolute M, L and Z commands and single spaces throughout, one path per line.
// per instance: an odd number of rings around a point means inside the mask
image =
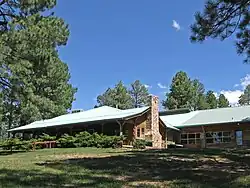
M 121 187 L 122 182 L 90 174 L 69 175 L 35 170 L 0 170 L 0 187 Z

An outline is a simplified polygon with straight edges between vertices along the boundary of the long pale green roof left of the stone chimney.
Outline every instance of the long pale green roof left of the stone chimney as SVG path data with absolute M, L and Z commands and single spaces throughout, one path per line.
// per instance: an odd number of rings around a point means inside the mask
M 77 123 L 88 123 L 108 120 L 126 120 L 139 116 L 149 110 L 150 107 L 120 110 L 108 106 L 94 108 L 88 111 L 65 114 L 48 120 L 35 121 L 31 124 L 8 130 L 9 132 L 21 132 L 39 128 L 56 127 Z

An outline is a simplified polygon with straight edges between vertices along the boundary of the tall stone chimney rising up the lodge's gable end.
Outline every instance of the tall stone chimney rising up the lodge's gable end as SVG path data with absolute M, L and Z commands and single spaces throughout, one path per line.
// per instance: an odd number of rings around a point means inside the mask
M 159 98 L 150 96 L 151 109 L 147 117 L 146 138 L 152 140 L 154 148 L 162 147 L 162 136 L 159 129 Z

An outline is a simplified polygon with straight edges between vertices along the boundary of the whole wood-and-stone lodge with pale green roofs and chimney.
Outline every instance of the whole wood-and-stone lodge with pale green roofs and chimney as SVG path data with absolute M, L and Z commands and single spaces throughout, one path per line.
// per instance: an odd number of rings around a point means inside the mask
M 124 145 L 135 139 L 152 142 L 154 148 L 178 145 L 186 148 L 232 148 L 250 146 L 250 106 L 159 112 L 159 99 L 151 106 L 120 110 L 108 106 L 66 114 L 8 130 L 36 136 L 60 136 L 81 131 L 124 135 Z

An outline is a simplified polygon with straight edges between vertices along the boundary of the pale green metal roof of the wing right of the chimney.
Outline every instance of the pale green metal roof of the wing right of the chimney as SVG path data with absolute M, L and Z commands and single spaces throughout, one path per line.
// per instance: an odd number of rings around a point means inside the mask
M 199 125 L 250 122 L 250 106 L 217 108 L 185 114 L 161 116 L 165 124 L 182 128 Z

